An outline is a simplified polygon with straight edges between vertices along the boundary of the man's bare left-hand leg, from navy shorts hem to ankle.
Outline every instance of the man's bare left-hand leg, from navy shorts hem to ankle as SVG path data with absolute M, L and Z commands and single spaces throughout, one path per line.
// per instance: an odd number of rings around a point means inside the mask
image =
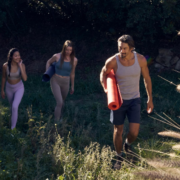
M 114 147 L 118 155 L 122 151 L 122 133 L 124 125 L 114 125 L 113 142 Z

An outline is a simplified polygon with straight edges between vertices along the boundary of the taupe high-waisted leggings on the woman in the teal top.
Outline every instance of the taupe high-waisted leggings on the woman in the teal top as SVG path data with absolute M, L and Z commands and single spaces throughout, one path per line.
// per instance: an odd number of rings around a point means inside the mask
M 55 120 L 58 121 L 61 116 L 61 109 L 69 92 L 70 77 L 62 78 L 54 75 L 51 80 L 51 90 L 56 99 L 56 107 L 54 111 Z

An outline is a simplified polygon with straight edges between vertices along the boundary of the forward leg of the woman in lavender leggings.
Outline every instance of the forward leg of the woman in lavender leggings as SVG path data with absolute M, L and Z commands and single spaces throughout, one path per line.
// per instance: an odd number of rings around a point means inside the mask
M 18 119 L 18 107 L 23 97 L 23 94 L 24 94 L 24 86 L 18 89 L 14 93 L 14 99 L 12 102 L 11 129 L 14 129 L 16 127 L 16 123 Z

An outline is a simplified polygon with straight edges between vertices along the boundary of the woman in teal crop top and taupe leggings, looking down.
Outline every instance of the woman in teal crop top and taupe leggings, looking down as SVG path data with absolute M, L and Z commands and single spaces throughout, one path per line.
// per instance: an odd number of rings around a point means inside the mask
M 54 112 L 55 121 L 58 122 L 61 117 L 61 109 L 65 98 L 69 91 L 71 81 L 70 94 L 74 93 L 74 78 L 77 58 L 75 57 L 74 47 L 71 41 L 65 41 L 63 49 L 60 53 L 54 54 L 46 63 L 46 70 L 55 63 L 55 74 L 50 80 L 51 90 L 56 99 L 56 107 Z

